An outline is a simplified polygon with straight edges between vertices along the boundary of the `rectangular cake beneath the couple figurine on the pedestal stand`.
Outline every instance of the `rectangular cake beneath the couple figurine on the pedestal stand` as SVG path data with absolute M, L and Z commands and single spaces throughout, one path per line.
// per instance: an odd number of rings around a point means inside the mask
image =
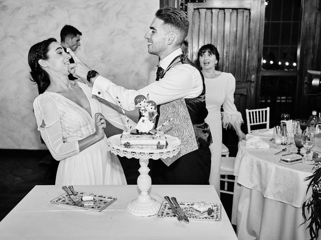
M 168 141 L 163 131 L 156 131 L 156 134 L 131 134 L 123 131 L 120 144 L 127 148 L 163 149 L 167 148 Z

